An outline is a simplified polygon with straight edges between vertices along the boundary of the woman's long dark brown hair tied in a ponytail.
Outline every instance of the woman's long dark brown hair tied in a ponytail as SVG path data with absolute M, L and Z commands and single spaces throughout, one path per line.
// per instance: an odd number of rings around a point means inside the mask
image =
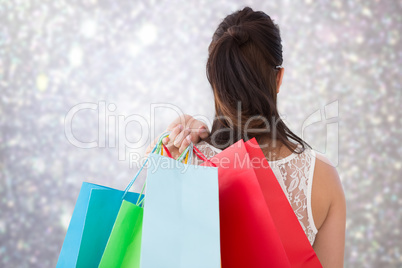
M 283 62 L 282 44 L 279 27 L 267 14 L 245 7 L 228 15 L 208 51 L 215 118 L 207 142 L 224 149 L 237 140 L 258 140 L 269 133 L 291 151 L 296 152 L 291 140 L 302 146 L 298 153 L 310 147 L 278 113 L 276 78 Z

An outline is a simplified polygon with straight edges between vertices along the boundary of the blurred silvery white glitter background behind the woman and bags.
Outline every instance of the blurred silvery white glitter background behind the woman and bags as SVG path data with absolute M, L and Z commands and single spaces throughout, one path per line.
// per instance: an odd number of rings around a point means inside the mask
M 244 5 L 280 26 L 280 112 L 337 165 L 348 206 L 345 266 L 402 267 L 398 0 L 1 0 L 0 267 L 55 267 L 81 183 L 127 185 L 137 171 L 130 159 L 145 146 L 113 141 L 146 144 L 140 136 L 149 133 L 134 122 L 124 136 L 110 127 L 118 116 L 150 120 L 151 103 L 171 103 L 212 118 L 207 47 Z M 65 134 L 66 114 L 80 103 L 98 109 L 80 111 L 73 134 L 96 148 Z M 106 139 L 98 136 L 104 105 Z M 176 114 L 155 111 L 158 133 Z

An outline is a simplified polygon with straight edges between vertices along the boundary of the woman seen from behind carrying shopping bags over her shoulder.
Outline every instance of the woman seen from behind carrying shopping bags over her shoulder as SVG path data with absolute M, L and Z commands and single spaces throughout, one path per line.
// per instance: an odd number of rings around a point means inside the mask
M 211 132 L 183 116 L 164 140 L 174 156 L 190 141 L 207 157 L 255 137 L 323 267 L 343 267 L 346 205 L 336 169 L 290 131 L 277 109 L 284 68 L 279 28 L 246 7 L 227 16 L 209 46 L 207 77 L 215 98 Z

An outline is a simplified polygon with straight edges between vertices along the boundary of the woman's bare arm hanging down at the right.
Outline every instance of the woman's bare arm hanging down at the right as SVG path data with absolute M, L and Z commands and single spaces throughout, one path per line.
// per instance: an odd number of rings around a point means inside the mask
M 343 267 L 346 201 L 335 167 L 317 154 L 312 186 L 312 212 L 318 229 L 313 248 L 324 268 Z

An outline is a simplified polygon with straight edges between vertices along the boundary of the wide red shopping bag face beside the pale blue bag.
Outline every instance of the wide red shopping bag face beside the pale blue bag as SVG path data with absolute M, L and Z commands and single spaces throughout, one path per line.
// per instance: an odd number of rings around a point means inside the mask
M 210 160 L 218 167 L 222 267 L 291 267 L 243 140 Z

